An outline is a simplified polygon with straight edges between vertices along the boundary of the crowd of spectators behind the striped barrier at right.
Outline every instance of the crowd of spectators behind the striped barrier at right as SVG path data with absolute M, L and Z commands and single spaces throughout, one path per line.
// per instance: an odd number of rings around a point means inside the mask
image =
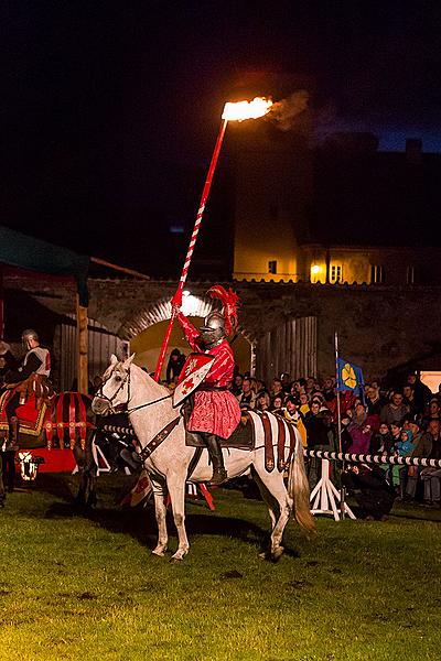
M 369 381 L 363 394 L 340 393 L 338 435 L 335 379 L 313 377 L 292 380 L 289 373 L 269 384 L 249 373 L 236 373 L 233 391 L 244 411 L 271 411 L 300 432 L 311 449 L 354 454 L 441 458 L 441 391 L 432 393 L 415 372 L 399 388 L 384 390 Z M 306 463 L 310 487 L 320 478 L 319 460 Z M 369 479 L 384 478 L 394 497 L 440 507 L 441 469 L 383 465 L 383 472 L 365 465 L 356 469 Z

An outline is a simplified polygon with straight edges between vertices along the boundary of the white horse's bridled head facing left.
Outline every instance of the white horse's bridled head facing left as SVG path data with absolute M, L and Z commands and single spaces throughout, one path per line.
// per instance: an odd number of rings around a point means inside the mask
M 97 415 L 115 413 L 127 405 L 130 400 L 130 366 L 135 354 L 125 361 L 111 356 L 110 365 L 103 375 L 103 383 L 92 402 L 92 410 Z

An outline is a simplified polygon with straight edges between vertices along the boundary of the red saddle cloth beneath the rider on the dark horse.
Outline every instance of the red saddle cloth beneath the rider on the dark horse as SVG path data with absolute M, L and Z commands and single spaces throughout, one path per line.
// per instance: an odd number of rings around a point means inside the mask
M 17 392 L 15 388 L 6 390 L 0 395 L 0 434 L 4 436 L 9 431 L 7 404 L 11 397 Z M 20 423 L 20 433 L 29 436 L 31 446 L 44 446 L 45 442 L 37 444 L 42 433 L 43 424 L 47 414 L 47 403 L 40 399 L 37 400 L 34 393 L 31 393 L 25 403 L 17 407 L 17 416 Z M 33 443 L 32 443 L 33 441 Z

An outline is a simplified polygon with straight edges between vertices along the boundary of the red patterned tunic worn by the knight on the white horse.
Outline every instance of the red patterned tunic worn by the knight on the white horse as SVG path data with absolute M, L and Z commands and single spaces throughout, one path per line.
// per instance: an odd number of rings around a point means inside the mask
M 178 315 L 185 338 L 195 351 L 202 351 L 200 332 L 182 314 Z M 229 388 L 234 376 L 234 356 L 228 342 L 224 339 L 216 347 L 205 350 L 204 354 L 214 356 L 209 372 L 204 379 L 203 387 L 209 390 L 196 389 L 194 393 L 194 409 L 189 420 L 190 432 L 207 432 L 220 438 L 228 438 L 240 421 L 240 407 Z

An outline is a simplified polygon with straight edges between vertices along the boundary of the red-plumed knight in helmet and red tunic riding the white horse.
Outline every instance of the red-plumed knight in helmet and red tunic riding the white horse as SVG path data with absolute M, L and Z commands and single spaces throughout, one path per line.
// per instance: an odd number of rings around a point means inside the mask
M 230 387 L 234 379 L 235 360 L 227 336 L 237 321 L 237 295 L 220 285 L 207 292 L 219 299 L 223 312 L 212 312 L 197 329 L 181 312 L 181 300 L 173 301 L 175 316 L 185 333 L 185 338 L 194 351 L 209 354 L 215 360 L 204 381 L 194 391 L 194 408 L 187 429 L 197 432 L 207 446 L 213 463 L 211 485 L 222 485 L 227 479 L 219 440 L 228 438 L 240 422 L 240 408 Z

